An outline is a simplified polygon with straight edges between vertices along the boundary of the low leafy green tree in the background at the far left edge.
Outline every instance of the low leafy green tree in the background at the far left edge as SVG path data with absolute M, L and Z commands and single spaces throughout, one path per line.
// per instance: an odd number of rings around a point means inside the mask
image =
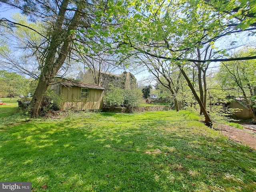
M 0 70 L 0 86 L 2 94 L 10 96 L 27 95 L 29 91 L 28 79 L 16 73 Z

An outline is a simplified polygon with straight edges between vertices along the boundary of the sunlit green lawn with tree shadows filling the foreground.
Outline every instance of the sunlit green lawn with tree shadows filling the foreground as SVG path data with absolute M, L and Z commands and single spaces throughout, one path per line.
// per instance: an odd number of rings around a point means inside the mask
M 70 112 L 28 120 L 9 107 L 0 106 L 2 182 L 30 181 L 33 192 L 256 190 L 255 150 L 207 128 L 192 112 Z

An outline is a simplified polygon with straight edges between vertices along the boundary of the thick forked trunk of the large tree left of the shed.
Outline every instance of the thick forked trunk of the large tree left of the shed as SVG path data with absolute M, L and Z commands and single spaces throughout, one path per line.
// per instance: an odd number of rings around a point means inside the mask
M 65 32 L 63 32 L 62 24 L 65 20 L 65 13 L 68 3 L 69 0 L 63 0 L 60 6 L 60 12 L 56 20 L 54 32 L 52 33 L 51 42 L 45 59 L 45 64 L 41 69 L 42 72 L 40 75 L 38 86 L 31 101 L 32 117 L 38 116 L 38 111 L 42 104 L 44 93 L 46 92 L 50 82 L 55 78 L 58 70 L 63 65 L 68 53 L 70 52 L 72 40 L 74 38 L 74 34 L 71 34 L 70 31 L 77 29 L 77 22 L 78 20 L 80 20 L 80 16 L 78 14 L 79 11 L 76 10 L 71 20 L 70 26 Z M 57 58 L 56 55 L 58 55 Z

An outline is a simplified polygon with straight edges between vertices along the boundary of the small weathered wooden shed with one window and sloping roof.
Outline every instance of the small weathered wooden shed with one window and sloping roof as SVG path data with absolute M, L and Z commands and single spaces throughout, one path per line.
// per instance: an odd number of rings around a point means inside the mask
M 97 84 L 61 79 L 51 88 L 62 97 L 61 110 L 97 110 L 103 107 L 105 88 Z

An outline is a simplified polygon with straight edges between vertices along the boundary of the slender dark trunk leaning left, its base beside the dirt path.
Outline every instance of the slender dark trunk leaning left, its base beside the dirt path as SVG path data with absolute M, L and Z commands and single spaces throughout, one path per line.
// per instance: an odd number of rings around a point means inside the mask
M 202 113 L 204 114 L 204 118 L 205 118 L 205 121 L 204 123 L 207 125 L 207 126 L 212 126 L 212 120 L 209 116 L 209 114 L 207 113 L 206 111 L 206 108 L 204 107 L 204 104 L 202 103 L 202 101 L 200 100 L 198 94 L 196 93 L 196 90 L 194 89 L 190 79 L 188 78 L 188 76 L 186 75 L 185 71 L 183 70 L 182 66 L 178 65 L 178 67 L 180 68 L 180 71 L 182 73 L 182 75 L 184 76 L 184 78 L 186 79 L 186 81 L 188 82 L 188 86 L 190 88 L 190 90 L 192 91 L 194 97 L 196 98 L 198 104 L 200 105 L 200 110 L 202 111 Z

